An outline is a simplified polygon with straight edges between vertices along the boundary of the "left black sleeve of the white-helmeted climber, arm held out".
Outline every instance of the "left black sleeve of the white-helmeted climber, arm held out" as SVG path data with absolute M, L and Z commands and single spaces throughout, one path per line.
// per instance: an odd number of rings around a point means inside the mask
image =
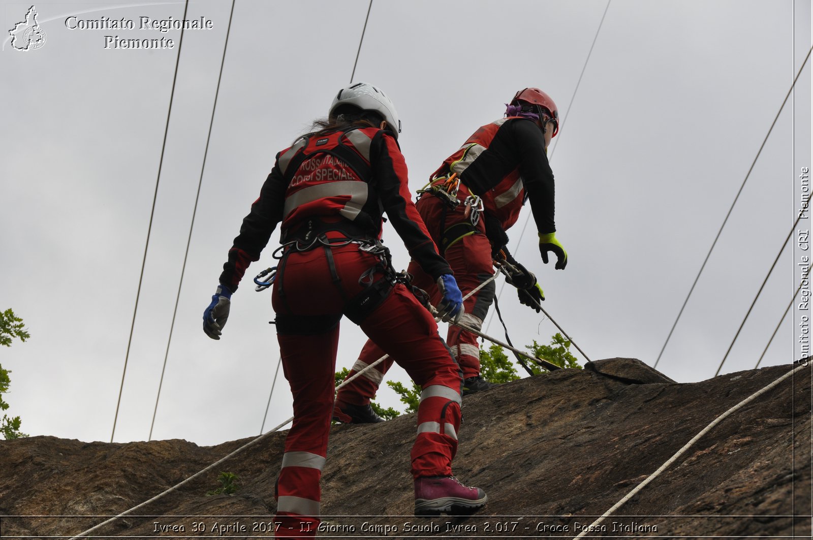
M 237 290 L 249 264 L 259 260 L 276 225 L 282 220 L 286 187 L 285 179 L 275 163 L 260 189 L 259 198 L 251 205 L 249 215 L 243 218 L 240 234 L 234 238 L 232 249 L 228 250 L 228 261 L 223 265 L 220 283 L 232 292 Z

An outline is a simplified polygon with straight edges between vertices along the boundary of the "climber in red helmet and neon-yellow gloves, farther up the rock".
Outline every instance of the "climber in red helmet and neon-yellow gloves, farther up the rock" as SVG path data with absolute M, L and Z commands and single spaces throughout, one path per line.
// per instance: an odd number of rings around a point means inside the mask
M 559 131 L 559 111 L 553 99 L 536 88 L 517 92 L 507 106 L 506 118 L 486 124 L 447 158 L 432 175 L 430 188 L 423 190 L 416 207 L 427 225 L 441 255 L 454 271 L 460 290 L 467 294 L 493 274 L 493 259 L 506 252 L 506 230 L 516 223 L 526 200 L 530 201 L 537 225 L 539 249 L 544 263 L 548 253 L 557 257 L 555 268 L 567 264 L 567 252 L 556 239 L 554 224 L 554 175 L 547 159 L 547 147 Z M 454 177 L 459 185 L 454 184 Z M 449 185 L 460 203 L 450 206 Z M 443 191 L 438 197 L 437 190 Z M 415 276 L 414 285 L 430 294 L 433 303 L 440 293 L 433 286 L 418 261 L 413 260 L 408 272 Z M 545 299 L 536 278 L 532 285 L 519 289 L 520 302 L 535 307 Z M 489 282 L 465 302 L 461 322 L 480 329 L 493 302 L 494 283 Z M 477 336 L 450 325 L 446 342 L 463 369 L 463 394 L 489 390 L 493 383 L 480 376 L 480 349 Z M 348 377 L 385 355 L 375 340 L 363 347 L 359 360 Z M 394 357 L 398 360 L 398 355 Z M 382 421 L 370 407 L 370 399 L 393 358 L 367 370 L 339 390 L 334 412 L 341 422 L 372 423 Z

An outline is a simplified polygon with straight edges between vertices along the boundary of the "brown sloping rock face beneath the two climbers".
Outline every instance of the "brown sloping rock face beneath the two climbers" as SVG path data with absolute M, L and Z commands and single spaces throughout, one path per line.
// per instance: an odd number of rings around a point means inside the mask
M 414 416 L 334 426 L 320 536 L 576 537 L 717 416 L 791 369 L 676 384 L 634 359 L 594 364 L 463 399 L 455 473 L 489 495 L 474 516 L 411 516 Z M 587 537 L 810 538 L 811 429 L 808 367 L 721 421 Z M 272 537 L 284 437 L 272 434 L 91 535 Z M 70 538 L 250 440 L 0 441 L 0 537 Z M 206 496 L 220 471 L 237 474 L 241 489 Z

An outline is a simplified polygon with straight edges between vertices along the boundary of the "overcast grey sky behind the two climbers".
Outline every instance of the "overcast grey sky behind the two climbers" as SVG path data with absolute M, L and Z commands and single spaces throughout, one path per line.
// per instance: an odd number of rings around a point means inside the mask
M 3 2 L 0 11 L 0 309 L 13 308 L 31 333 L 0 351 L 12 371 L 7 412 L 32 435 L 109 441 L 180 39 L 179 30 L 140 29 L 140 17 L 180 19 L 184 5 L 35 6 L 46 34 L 36 50 L 14 50 L 7 37 L 31 3 Z M 230 6 L 189 4 L 188 18 L 212 28 L 186 31 L 180 48 L 118 442 L 150 433 Z M 591 359 L 652 365 L 811 46 L 811 5 L 612 0 L 574 99 L 606 6 L 376 0 L 354 81 L 393 99 L 413 190 L 477 127 L 500 118 L 517 89 L 550 94 L 567 118 L 550 148 L 567 269 L 541 263 L 533 220 L 521 234 L 529 207 L 508 231 L 509 246 Z M 278 233 L 234 295 L 219 342 L 202 332 L 202 311 L 276 152 L 349 83 L 367 7 L 237 2 L 153 438 L 211 445 L 259 434 L 279 348 L 271 294 L 255 293 L 250 278 L 272 265 Z M 135 28 L 68 28 L 71 16 L 124 18 Z M 105 36 L 164 37 L 175 48 L 106 49 Z M 807 63 L 660 360 L 676 381 L 714 375 L 793 227 L 798 171 L 811 165 L 810 102 Z M 385 242 L 406 268 L 392 229 Z M 757 363 L 798 286 L 794 245 L 795 235 L 724 373 Z M 515 344 L 547 343 L 556 332 L 511 290 L 500 305 Z M 796 358 L 799 316 L 785 319 L 762 366 Z M 486 322 L 485 332 L 502 339 L 498 321 Z M 337 368 L 350 367 L 363 341 L 344 320 Z M 390 373 L 406 379 L 400 368 Z M 402 408 L 389 388 L 379 398 Z M 280 371 L 266 429 L 290 415 Z

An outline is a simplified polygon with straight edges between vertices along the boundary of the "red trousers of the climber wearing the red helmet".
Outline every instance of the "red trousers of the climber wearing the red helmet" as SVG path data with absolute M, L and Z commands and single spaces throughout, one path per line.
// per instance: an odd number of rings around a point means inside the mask
M 458 195 L 459 198 L 468 196 L 465 186 L 460 186 Z M 415 206 L 418 208 L 420 216 L 423 218 L 436 246 L 442 245 L 444 230 L 449 229 L 454 224 L 467 221 L 471 223 L 463 205 L 453 210 L 446 207 L 446 203 L 441 199 L 430 194 L 424 194 Z M 476 233 L 461 238 L 448 247 L 445 254 L 441 254 L 449 262 L 454 272 L 454 279 L 457 281 L 463 296 L 475 290 L 493 275 L 491 242 L 485 236 L 485 224 L 482 220 L 478 222 L 476 229 Z M 415 276 L 413 285 L 425 290 L 429 294 L 432 304 L 437 306 L 441 294 L 432 278 L 428 277 L 414 260 L 410 263 L 408 272 Z M 470 298 L 467 298 L 463 303 L 466 313 L 463 315 L 461 322 L 479 330 L 491 303 L 493 303 L 495 288 L 494 282 L 491 281 L 475 294 L 472 294 Z M 463 370 L 463 378 L 480 375 L 480 347 L 477 343 L 476 334 L 450 324 L 446 342 L 449 344 L 454 359 L 458 361 L 460 368 Z M 354 364 L 353 369 L 350 370 L 348 378 L 385 355 L 385 352 L 375 339 L 367 341 L 363 346 L 359 359 Z M 381 381 L 383 381 L 385 373 L 393 365 L 393 360 L 401 364 L 401 356 L 400 353 L 390 356 L 375 368 L 363 373 L 360 377 L 351 381 L 350 384 L 342 387 L 339 390 L 337 399 L 356 405 L 370 403 L 370 400 L 376 397 L 376 391 Z

